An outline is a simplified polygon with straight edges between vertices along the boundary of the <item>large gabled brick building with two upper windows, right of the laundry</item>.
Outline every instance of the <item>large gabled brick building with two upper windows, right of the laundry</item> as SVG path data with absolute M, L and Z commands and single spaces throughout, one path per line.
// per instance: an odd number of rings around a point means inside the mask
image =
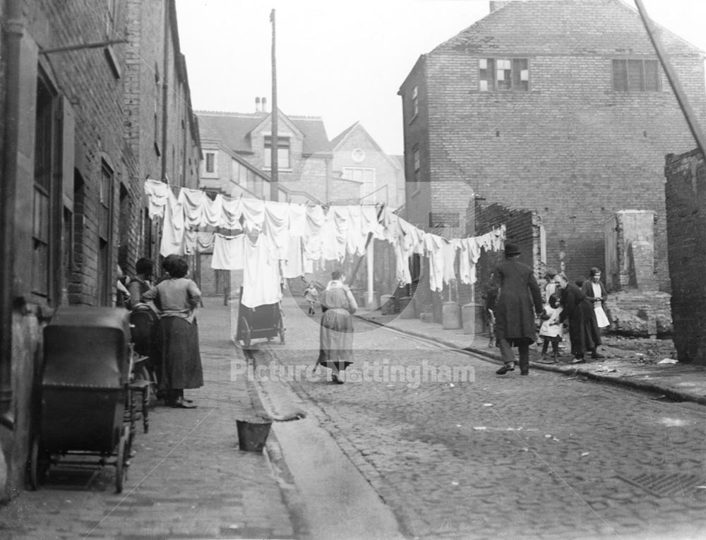
M 621 0 L 490 2 L 428 54 L 399 94 L 409 222 L 455 236 L 469 198 L 537 212 L 546 263 L 604 263 L 604 222 L 653 210 L 654 277 L 669 289 L 663 160 L 693 148 L 635 9 Z M 661 39 L 700 117 L 703 53 Z

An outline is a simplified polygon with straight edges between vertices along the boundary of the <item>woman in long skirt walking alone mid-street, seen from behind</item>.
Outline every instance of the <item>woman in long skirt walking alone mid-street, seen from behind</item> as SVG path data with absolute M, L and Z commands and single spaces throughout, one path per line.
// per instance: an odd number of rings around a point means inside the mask
M 340 270 L 331 273 L 319 298 L 323 316 L 319 332 L 318 364 L 333 370 L 334 383 L 343 384 L 342 372 L 353 363 L 353 317 L 358 309 L 353 293 Z

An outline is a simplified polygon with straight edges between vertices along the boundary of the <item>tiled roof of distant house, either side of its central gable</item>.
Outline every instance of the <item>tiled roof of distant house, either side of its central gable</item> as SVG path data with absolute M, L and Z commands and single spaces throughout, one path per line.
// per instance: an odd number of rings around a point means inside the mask
M 250 133 L 270 117 L 269 112 L 196 111 L 202 139 L 217 139 L 234 152 L 251 153 Z M 285 116 L 282 111 L 280 115 Z M 286 116 L 304 134 L 303 154 L 330 152 L 331 143 L 318 116 Z

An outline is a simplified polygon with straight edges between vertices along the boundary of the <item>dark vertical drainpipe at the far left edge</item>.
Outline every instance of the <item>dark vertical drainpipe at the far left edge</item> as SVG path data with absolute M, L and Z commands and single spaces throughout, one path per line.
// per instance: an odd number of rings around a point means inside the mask
M 12 313 L 13 265 L 15 253 L 15 198 L 17 179 L 18 131 L 20 123 L 20 42 L 24 25 L 20 0 L 6 0 L 2 25 L 5 61 L 5 103 L 3 107 L 2 178 L 0 182 L 0 229 L 2 260 L 0 265 L 0 425 L 12 429 Z

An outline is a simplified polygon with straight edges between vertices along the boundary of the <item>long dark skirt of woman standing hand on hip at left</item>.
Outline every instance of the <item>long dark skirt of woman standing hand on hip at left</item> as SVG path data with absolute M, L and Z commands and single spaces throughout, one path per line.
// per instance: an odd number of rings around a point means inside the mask
M 189 324 L 181 317 L 163 317 L 157 327 L 160 349 L 160 390 L 183 390 L 203 386 L 201 353 L 196 319 Z

